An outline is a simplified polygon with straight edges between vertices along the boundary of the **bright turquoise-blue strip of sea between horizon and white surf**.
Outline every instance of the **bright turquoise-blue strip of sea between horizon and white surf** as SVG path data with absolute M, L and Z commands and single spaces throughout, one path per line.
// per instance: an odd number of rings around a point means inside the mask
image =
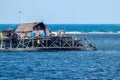
M 19 24 L 0 24 L 0 31 L 5 28 L 16 29 Z M 67 32 L 104 32 L 120 33 L 120 24 L 47 24 L 47 27 L 55 32 L 66 30 Z

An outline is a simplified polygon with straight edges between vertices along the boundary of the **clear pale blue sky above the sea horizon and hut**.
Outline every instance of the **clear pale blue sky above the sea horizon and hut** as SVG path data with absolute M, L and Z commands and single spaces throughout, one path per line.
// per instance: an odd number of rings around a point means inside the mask
M 119 24 L 120 0 L 0 0 L 0 24 Z

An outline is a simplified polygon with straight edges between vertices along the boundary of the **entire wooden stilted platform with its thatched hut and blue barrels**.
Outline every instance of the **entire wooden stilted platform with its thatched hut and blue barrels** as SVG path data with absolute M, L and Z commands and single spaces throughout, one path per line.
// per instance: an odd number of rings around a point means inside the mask
M 68 36 L 65 30 L 53 34 L 43 22 L 22 23 L 16 30 L 0 33 L 0 51 L 96 50 L 88 38 Z

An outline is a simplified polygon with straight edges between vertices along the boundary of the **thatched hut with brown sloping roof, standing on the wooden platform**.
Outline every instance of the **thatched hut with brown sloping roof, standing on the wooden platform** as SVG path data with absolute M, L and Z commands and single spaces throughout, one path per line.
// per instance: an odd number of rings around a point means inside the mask
M 18 34 L 24 34 L 24 36 L 29 36 L 33 31 L 43 31 L 46 36 L 49 36 L 51 32 L 43 22 L 22 23 L 15 32 Z

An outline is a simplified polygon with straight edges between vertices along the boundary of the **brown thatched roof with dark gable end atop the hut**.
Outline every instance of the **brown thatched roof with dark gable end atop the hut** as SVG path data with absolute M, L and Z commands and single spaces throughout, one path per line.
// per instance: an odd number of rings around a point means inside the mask
M 49 32 L 46 25 L 43 22 L 34 22 L 34 23 L 22 23 L 16 29 L 15 32 L 32 32 L 33 30 L 44 30 L 46 33 Z

